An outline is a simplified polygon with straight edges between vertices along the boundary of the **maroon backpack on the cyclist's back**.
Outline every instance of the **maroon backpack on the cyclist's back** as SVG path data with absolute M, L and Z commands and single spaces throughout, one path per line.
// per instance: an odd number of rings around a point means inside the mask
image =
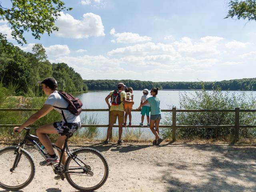
M 82 106 L 83 106 L 80 99 L 72 96 L 72 94 L 63 92 L 61 90 L 58 91 L 58 94 L 60 94 L 60 96 L 62 96 L 62 98 L 64 98 L 66 100 L 66 102 L 68 102 L 68 107 L 67 108 L 60 108 L 60 107 L 56 107 L 56 106 L 53 106 L 53 107 L 61 109 L 62 116 L 63 116 L 65 122 L 67 122 L 67 120 L 66 120 L 62 110 L 68 110 L 69 112 L 71 112 L 74 115 L 80 115 L 80 113 L 82 112 Z

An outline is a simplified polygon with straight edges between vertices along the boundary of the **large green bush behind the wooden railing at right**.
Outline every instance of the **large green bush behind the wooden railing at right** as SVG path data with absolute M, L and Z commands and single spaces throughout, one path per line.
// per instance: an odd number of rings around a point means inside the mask
M 207 91 L 202 84 L 202 90 L 195 94 L 181 93 L 179 99 L 180 109 L 255 109 L 256 97 L 246 92 L 222 92 L 220 87 L 214 87 Z M 170 106 L 171 108 L 173 106 Z M 177 112 L 177 125 L 234 125 L 234 112 Z M 163 120 L 164 124 L 172 124 L 172 114 L 168 114 Z M 240 125 L 256 124 L 256 113 L 240 112 Z M 234 128 L 178 128 L 178 138 L 228 138 L 232 137 Z M 163 128 L 161 134 L 164 138 L 170 138 L 170 129 Z M 240 136 L 249 138 L 256 136 L 255 128 L 240 128 Z

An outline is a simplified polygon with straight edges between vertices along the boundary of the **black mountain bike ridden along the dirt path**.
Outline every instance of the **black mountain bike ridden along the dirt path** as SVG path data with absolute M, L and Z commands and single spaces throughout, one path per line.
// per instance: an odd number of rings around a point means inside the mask
M 38 137 L 29 133 L 30 128 L 24 129 L 26 135 L 18 146 L 0 150 L 0 187 L 5 190 L 20 190 L 30 184 L 34 178 L 34 159 L 24 149 L 27 141 L 34 145 L 42 157 L 48 157 L 37 143 L 39 142 Z M 53 148 L 61 152 L 60 162 L 57 165 L 51 165 L 54 173 L 59 174 L 62 180 L 65 175 L 69 184 L 80 191 L 93 191 L 100 188 L 108 178 L 109 170 L 106 159 L 98 150 L 92 148 L 79 148 L 70 151 L 67 145 L 69 137 L 68 134 L 63 149 L 52 143 Z M 68 159 L 65 165 L 62 165 L 65 150 Z M 84 180 L 85 177 L 88 180 Z

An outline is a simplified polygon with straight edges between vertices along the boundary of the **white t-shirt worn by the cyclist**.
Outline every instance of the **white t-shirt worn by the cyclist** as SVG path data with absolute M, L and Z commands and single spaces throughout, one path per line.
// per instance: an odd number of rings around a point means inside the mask
M 68 102 L 66 102 L 66 100 L 62 96 L 60 96 L 60 94 L 58 94 L 58 91 L 54 91 L 52 94 L 50 94 L 44 104 L 49 104 L 60 108 L 68 107 Z M 54 110 L 61 113 L 61 109 L 54 108 Z M 63 110 L 63 113 L 68 123 L 80 122 L 79 115 L 74 115 L 71 112 L 69 112 L 69 110 Z M 62 119 L 62 121 L 65 122 L 64 119 Z

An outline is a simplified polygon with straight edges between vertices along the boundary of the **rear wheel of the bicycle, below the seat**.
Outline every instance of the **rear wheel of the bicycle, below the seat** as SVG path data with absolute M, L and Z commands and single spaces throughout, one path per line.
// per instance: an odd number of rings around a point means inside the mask
M 67 181 L 80 191 L 94 191 L 108 178 L 108 163 L 102 154 L 92 148 L 81 148 L 65 163 Z

